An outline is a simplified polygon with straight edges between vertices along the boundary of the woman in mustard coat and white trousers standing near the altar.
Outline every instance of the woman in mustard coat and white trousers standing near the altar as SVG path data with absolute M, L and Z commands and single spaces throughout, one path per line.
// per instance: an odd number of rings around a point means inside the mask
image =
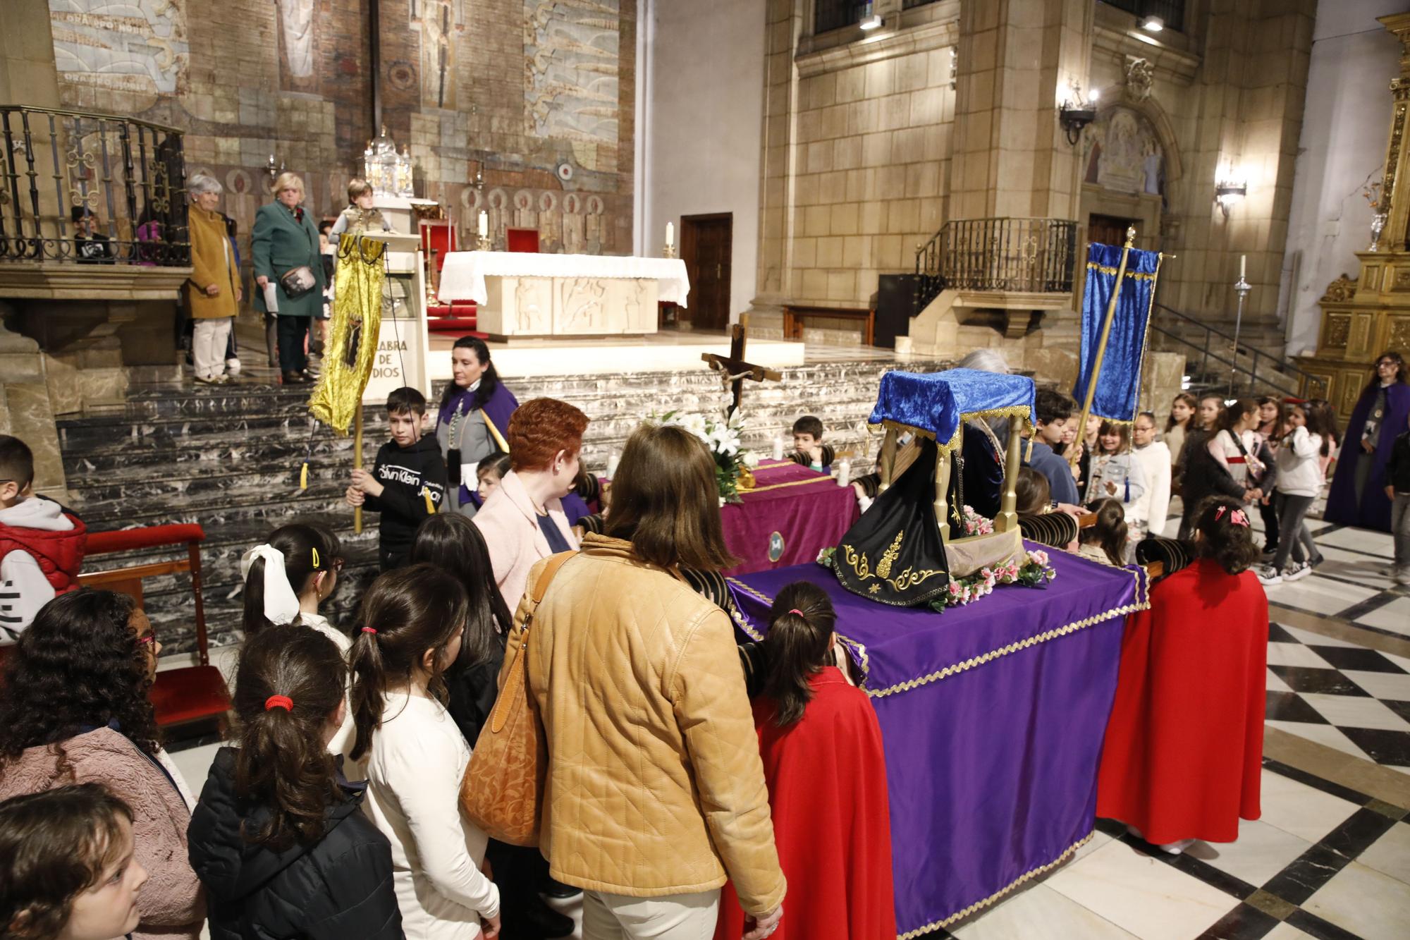
M 190 277 L 186 279 L 186 309 L 196 320 L 192 332 L 190 354 L 196 364 L 196 381 L 223 385 L 226 374 L 226 343 L 240 312 L 243 292 L 240 268 L 235 264 L 226 217 L 220 215 L 223 186 L 206 174 L 190 178 Z

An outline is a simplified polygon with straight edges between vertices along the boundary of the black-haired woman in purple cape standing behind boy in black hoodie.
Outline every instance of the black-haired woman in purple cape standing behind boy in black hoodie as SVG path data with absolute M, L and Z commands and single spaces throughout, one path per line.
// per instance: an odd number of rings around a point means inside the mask
M 489 361 L 489 347 L 478 337 L 455 340 L 450 371 L 436 416 L 436 443 L 446 459 L 451 507 L 475 515 L 470 498 L 478 483 L 475 467 L 496 452 L 509 452 L 509 416 L 519 408 L 519 399 L 501 384 Z

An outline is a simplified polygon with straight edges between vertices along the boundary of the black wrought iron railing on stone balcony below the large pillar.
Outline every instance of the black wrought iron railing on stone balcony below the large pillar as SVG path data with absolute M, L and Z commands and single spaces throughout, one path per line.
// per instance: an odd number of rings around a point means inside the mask
M 1070 294 L 1077 223 L 1067 219 L 956 219 L 915 253 L 916 312 L 940 291 Z

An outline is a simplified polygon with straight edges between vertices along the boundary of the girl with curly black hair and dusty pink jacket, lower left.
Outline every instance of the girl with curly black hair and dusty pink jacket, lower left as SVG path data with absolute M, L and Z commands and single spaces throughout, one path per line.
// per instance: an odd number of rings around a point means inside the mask
M 196 940 L 204 895 L 186 858 L 195 799 L 162 751 L 148 693 L 161 644 L 125 594 L 59 594 L 20 634 L 0 682 L 0 799 L 103 783 L 133 810 L 151 874 L 137 940 Z

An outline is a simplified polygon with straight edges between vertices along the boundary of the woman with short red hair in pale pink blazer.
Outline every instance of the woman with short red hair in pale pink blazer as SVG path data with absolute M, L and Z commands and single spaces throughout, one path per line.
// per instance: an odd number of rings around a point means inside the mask
M 525 402 L 509 419 L 512 469 L 474 519 L 509 610 L 519 607 L 534 562 L 578 548 L 563 497 L 577 481 L 587 428 L 587 415 L 556 398 Z

